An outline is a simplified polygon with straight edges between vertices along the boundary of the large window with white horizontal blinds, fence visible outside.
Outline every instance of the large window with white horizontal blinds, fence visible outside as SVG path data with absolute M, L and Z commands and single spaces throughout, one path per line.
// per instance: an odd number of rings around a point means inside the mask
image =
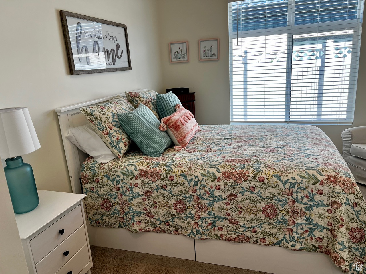
M 231 123 L 352 124 L 363 1 L 231 1 Z

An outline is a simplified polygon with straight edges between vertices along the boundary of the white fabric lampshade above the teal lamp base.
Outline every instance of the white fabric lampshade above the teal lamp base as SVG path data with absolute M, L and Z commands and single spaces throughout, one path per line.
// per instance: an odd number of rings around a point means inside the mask
M 0 109 L 1 159 L 28 154 L 40 147 L 26 107 Z

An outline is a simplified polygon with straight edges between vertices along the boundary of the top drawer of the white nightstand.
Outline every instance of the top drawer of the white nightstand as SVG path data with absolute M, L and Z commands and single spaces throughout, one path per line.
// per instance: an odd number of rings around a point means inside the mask
M 76 231 L 83 224 L 81 206 L 71 210 L 45 231 L 30 240 L 34 263 L 38 263 L 53 248 Z

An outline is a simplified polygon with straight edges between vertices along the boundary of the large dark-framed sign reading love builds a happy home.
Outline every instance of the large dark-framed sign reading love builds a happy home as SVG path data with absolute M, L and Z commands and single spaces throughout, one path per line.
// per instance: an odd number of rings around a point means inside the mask
M 71 75 L 131 70 L 127 27 L 60 11 Z

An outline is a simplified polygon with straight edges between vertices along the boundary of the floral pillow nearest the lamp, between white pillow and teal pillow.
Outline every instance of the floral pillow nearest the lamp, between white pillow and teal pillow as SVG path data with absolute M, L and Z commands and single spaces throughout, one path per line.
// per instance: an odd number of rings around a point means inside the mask
M 131 144 L 131 139 L 120 125 L 117 113 L 125 113 L 134 109 L 126 99 L 118 95 L 105 103 L 82 107 L 80 110 L 108 148 L 118 158 L 122 158 Z

